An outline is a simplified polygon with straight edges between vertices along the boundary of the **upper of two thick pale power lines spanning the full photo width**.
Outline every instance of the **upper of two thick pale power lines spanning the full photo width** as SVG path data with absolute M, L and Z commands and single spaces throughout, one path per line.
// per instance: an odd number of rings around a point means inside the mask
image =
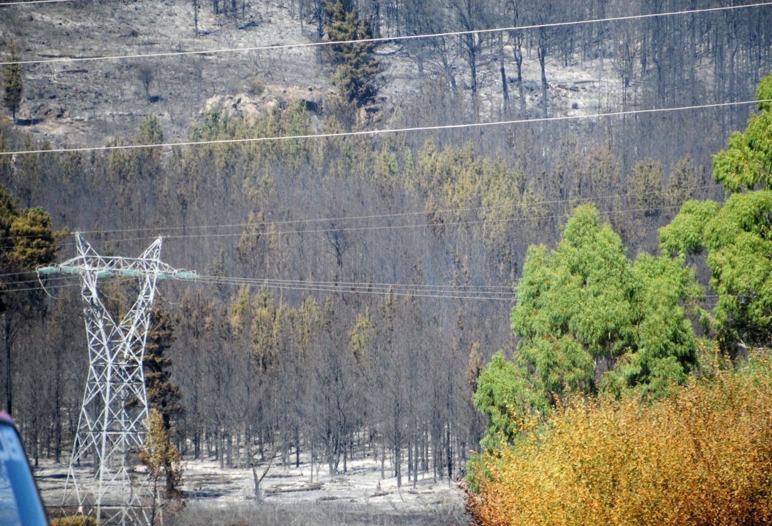
M 49 0 L 49 2 L 67 2 L 72 0 Z M 46 0 L 41 0 L 40 3 L 45 3 Z M 32 3 L 32 2 L 15 2 L 15 3 Z M 644 15 L 625 15 L 625 16 L 612 16 L 604 19 L 585 19 L 575 20 L 573 22 L 550 22 L 545 24 L 529 24 L 529 25 L 513 25 L 509 27 L 500 27 L 493 29 L 472 29 L 467 31 L 449 31 L 438 33 L 426 33 L 422 35 L 401 35 L 401 36 L 381 36 L 371 39 L 354 39 L 354 40 L 337 40 L 337 41 L 324 41 L 324 42 L 300 42 L 296 44 L 279 44 L 276 46 L 249 46 L 242 48 L 223 48 L 223 49 L 201 49 L 196 51 L 166 51 L 156 53 L 131 53 L 127 55 L 110 55 L 110 56 L 84 56 L 84 57 L 59 57 L 55 59 L 39 59 L 39 60 L 19 60 L 16 62 L 0 62 L 0 66 L 8 66 L 10 64 L 46 64 L 51 62 L 87 62 L 93 60 L 124 60 L 124 59 L 147 59 L 147 58 L 159 58 L 166 56 L 185 56 L 185 55 L 207 55 L 207 54 L 220 54 L 231 52 L 248 52 L 248 51 L 267 51 L 273 49 L 295 49 L 295 48 L 311 48 L 319 46 L 340 46 L 341 44 L 364 44 L 367 42 L 399 42 L 403 40 L 416 40 L 416 39 L 434 39 L 445 36 L 462 36 L 462 35 L 481 35 L 493 32 L 505 32 L 505 31 L 522 31 L 525 29 L 543 29 L 550 27 L 562 27 L 567 25 L 585 25 L 596 24 L 601 22 L 618 22 L 621 20 L 636 20 L 636 19 L 652 19 L 661 18 L 675 15 L 694 15 L 697 13 L 716 12 L 716 11 L 729 11 L 733 9 L 743 9 L 752 7 L 764 7 L 766 5 L 772 5 L 772 2 L 757 2 L 754 4 L 745 5 L 727 5 L 722 7 L 713 8 L 701 8 L 701 9 L 688 9 L 684 11 L 671 11 L 662 13 L 648 13 Z

